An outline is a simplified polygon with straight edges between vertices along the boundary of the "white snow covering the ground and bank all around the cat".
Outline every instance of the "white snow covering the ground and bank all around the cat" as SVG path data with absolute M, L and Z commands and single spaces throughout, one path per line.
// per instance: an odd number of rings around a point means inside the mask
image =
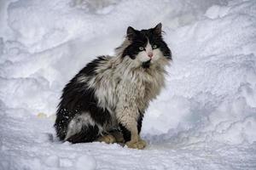
M 173 53 L 145 150 L 55 138 L 61 89 L 128 26 L 162 22 Z M 0 169 L 256 169 L 254 0 L 2 0 Z

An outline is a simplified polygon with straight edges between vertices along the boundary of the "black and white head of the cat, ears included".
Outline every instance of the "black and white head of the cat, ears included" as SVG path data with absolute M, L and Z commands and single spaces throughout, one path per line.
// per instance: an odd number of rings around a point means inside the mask
M 161 27 L 161 24 L 158 24 L 154 28 L 137 31 L 129 26 L 127 38 L 131 44 L 125 48 L 123 57 L 129 56 L 144 68 L 148 68 L 159 59 L 172 59 L 171 50 L 163 41 Z

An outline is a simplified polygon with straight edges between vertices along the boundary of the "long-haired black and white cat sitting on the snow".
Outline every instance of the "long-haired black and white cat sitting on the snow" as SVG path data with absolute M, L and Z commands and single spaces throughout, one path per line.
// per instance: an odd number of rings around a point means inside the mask
M 115 56 L 100 56 L 87 64 L 63 89 L 56 113 L 59 139 L 71 143 L 113 143 L 121 132 L 130 148 L 143 149 L 143 114 L 165 84 L 171 50 L 161 24 L 148 30 L 127 29 Z

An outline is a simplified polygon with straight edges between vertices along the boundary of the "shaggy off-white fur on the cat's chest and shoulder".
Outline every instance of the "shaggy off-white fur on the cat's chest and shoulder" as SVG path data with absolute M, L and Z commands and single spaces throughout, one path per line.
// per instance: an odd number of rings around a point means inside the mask
M 127 115 L 137 117 L 144 112 L 151 99 L 164 87 L 164 68 L 132 67 L 131 59 L 108 57 L 97 68 L 96 77 L 89 81 L 95 88 L 98 105 L 108 109 L 115 117 Z

